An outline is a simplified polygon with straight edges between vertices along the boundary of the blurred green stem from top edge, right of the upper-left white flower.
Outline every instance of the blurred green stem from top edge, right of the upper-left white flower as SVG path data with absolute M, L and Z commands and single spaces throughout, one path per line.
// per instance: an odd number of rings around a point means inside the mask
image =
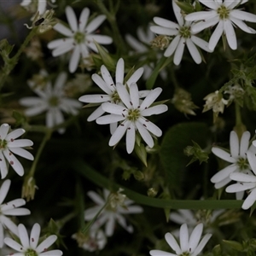
M 98 8 L 102 11 L 102 14 L 107 16 L 108 22 L 112 28 L 113 32 L 113 43 L 116 45 L 117 49 L 120 50 L 120 54 L 125 54 L 127 52 L 125 48 L 125 41 L 119 32 L 119 27 L 117 26 L 115 13 L 109 12 L 102 0 L 96 1 Z

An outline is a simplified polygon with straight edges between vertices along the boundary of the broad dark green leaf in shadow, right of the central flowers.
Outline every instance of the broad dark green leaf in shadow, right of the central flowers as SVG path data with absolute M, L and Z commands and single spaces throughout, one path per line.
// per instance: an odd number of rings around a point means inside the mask
M 207 125 L 203 123 L 181 123 L 166 132 L 160 148 L 160 161 L 166 171 L 166 182 L 170 188 L 179 188 L 183 181 L 188 163 L 183 149 L 192 141 L 205 146 L 207 132 Z

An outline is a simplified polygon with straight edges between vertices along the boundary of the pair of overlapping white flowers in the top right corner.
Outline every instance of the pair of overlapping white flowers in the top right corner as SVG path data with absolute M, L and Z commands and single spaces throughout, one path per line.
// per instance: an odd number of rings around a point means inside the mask
M 154 17 L 154 22 L 158 26 L 151 26 L 152 32 L 159 35 L 165 35 L 172 38 L 171 44 L 167 46 L 165 56 L 174 54 L 173 62 L 179 65 L 182 60 L 184 46 L 187 45 L 189 53 L 195 63 L 202 61 L 201 53 L 196 46 L 207 52 L 212 52 L 221 36 L 227 39 L 231 49 L 237 48 L 236 32 L 233 26 L 238 26 L 244 32 L 256 33 L 253 28 L 246 25 L 244 21 L 256 22 L 256 15 L 235 9 L 248 0 L 199 0 L 207 6 L 207 11 L 194 12 L 189 15 L 183 15 L 181 9 L 177 6 L 176 0 L 172 0 L 172 7 L 177 19 L 177 24 L 171 20 L 160 17 Z M 218 25 L 217 25 L 218 24 Z M 195 34 L 202 30 L 217 25 L 212 33 L 209 43 L 198 38 Z

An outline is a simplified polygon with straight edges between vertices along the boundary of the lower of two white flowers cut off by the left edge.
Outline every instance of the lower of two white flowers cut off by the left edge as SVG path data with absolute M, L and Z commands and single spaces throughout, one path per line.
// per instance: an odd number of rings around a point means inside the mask
M 9 229 L 16 236 L 19 236 L 17 225 L 8 217 L 9 216 L 23 216 L 30 214 L 26 208 L 20 208 L 26 204 L 24 199 L 15 199 L 3 203 L 6 195 L 9 192 L 11 181 L 5 180 L 0 188 L 0 248 L 3 247 L 4 229 Z

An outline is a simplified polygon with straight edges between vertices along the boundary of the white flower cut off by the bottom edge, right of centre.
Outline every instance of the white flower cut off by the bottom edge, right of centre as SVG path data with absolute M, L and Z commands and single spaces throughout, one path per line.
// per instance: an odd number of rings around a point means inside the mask
M 201 239 L 203 224 L 196 225 L 189 237 L 189 230 L 187 224 L 183 224 L 179 231 L 180 245 L 177 244 L 176 239 L 171 233 L 166 233 L 166 241 L 175 253 L 166 253 L 160 250 L 151 250 L 149 253 L 152 256 L 196 256 L 201 253 L 203 247 L 206 246 L 207 241 L 212 234 L 207 234 Z

